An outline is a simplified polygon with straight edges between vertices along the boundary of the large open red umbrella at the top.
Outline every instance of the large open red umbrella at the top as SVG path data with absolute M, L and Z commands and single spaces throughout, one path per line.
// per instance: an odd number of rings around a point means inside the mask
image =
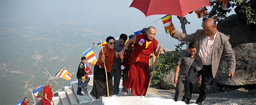
M 209 0 L 133 0 L 130 7 L 150 15 L 176 15 L 184 17 L 200 7 L 210 6 Z

